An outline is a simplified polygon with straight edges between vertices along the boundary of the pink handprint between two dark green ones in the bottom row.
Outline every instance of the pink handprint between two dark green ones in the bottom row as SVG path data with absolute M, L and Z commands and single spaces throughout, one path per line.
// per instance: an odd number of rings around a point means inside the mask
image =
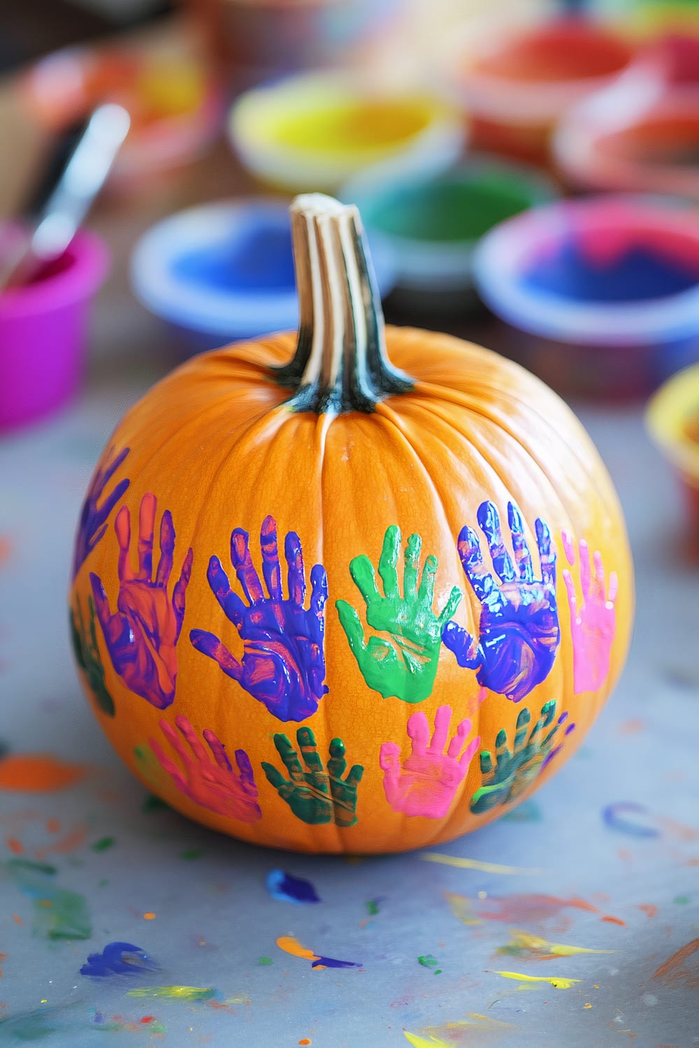
M 402 764 L 400 747 L 395 742 L 381 745 L 378 763 L 384 770 L 384 791 L 394 811 L 425 818 L 443 818 L 449 811 L 456 788 L 464 780 L 481 741 L 480 736 L 472 739 L 461 754 L 471 732 L 471 721 L 465 718 L 444 754 L 451 722 L 451 706 L 440 706 L 430 741 L 427 717 L 422 713 L 413 714 L 408 721 L 412 752 Z

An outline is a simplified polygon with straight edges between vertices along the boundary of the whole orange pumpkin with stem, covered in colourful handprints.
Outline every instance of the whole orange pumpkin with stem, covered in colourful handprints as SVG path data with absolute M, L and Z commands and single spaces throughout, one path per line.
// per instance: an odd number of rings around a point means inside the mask
M 385 331 L 356 209 L 291 219 L 298 337 L 188 362 L 101 459 L 75 653 L 115 749 L 184 814 L 400 851 L 575 751 L 624 664 L 632 565 L 566 405 L 469 343 Z

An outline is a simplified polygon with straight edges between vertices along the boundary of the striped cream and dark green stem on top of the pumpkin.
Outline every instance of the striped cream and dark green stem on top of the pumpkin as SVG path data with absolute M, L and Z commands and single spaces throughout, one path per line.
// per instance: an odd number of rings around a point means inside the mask
M 377 401 L 413 388 L 386 352 L 384 314 L 354 204 L 322 193 L 291 204 L 299 291 L 299 341 L 277 380 L 296 392 L 293 411 L 341 414 L 374 410 Z

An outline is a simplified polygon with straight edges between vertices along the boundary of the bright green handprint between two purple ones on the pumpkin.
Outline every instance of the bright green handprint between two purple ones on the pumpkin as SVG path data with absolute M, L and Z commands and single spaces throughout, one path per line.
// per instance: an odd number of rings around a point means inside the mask
M 420 536 L 411 534 L 406 546 L 402 595 L 398 589 L 400 528 L 397 525 L 387 528 L 378 562 L 384 596 L 369 558 L 363 554 L 350 562 L 350 574 L 367 605 L 368 625 L 388 633 L 390 639 L 372 636 L 367 643 L 355 609 L 346 601 L 335 604 L 362 676 L 385 699 L 394 695 L 403 702 L 421 702 L 432 694 L 442 630 L 461 599 L 461 592 L 455 586 L 444 610 L 439 616 L 435 614 L 432 606 L 437 558 L 425 559 L 418 587 L 421 548 Z

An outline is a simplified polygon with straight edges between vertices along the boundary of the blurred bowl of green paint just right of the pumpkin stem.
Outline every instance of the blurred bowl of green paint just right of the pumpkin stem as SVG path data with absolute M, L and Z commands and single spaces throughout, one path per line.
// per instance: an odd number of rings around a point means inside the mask
M 487 157 L 440 175 L 359 175 L 343 190 L 356 203 L 373 242 L 393 249 L 398 292 L 412 308 L 461 310 L 476 302 L 472 259 L 492 226 L 558 196 L 533 168 Z

